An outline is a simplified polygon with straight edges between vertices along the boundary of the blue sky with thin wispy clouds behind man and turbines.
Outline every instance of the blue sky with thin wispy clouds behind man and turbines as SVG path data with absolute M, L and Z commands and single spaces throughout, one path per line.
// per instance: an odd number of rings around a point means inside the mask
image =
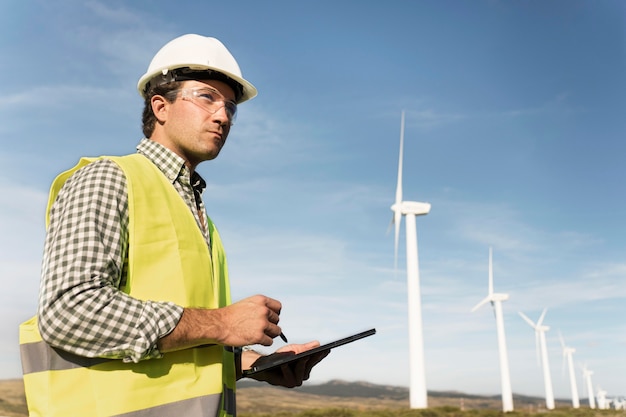
M 426 383 L 499 393 L 489 247 L 516 393 L 542 395 L 545 324 L 609 396 L 626 394 L 626 3 L 73 1 L 0 4 L 0 378 L 20 376 L 53 177 L 134 152 L 135 90 L 184 33 L 222 40 L 259 96 L 199 172 L 235 298 L 281 300 L 290 340 L 376 327 L 312 381 L 408 385 L 404 227 L 387 233 L 406 111 L 404 197 L 417 221 Z M 276 342 L 276 345 L 280 345 Z M 585 397 L 582 372 L 577 370 Z

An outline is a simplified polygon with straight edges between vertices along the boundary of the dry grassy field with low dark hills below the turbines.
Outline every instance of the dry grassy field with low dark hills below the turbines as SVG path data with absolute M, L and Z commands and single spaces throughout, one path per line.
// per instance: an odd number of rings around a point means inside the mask
M 319 394 L 322 392 L 323 394 Z M 287 390 L 268 385 L 243 384 L 237 390 L 239 417 L 495 417 L 499 411 L 497 397 L 458 393 L 429 395 L 429 408 L 410 410 L 406 390 L 359 383 L 334 382 L 322 386 Z M 335 395 L 333 395 L 335 394 Z M 517 401 L 516 401 L 517 400 Z M 547 412 L 536 398 L 514 399 L 517 411 L 507 417 L 549 414 L 550 417 L 626 417 L 626 411 L 573 410 L 557 402 Z M 26 400 L 22 380 L 0 380 L 0 417 L 26 417 Z M 68 416 L 70 417 L 70 416 Z M 181 416 L 184 417 L 184 416 Z

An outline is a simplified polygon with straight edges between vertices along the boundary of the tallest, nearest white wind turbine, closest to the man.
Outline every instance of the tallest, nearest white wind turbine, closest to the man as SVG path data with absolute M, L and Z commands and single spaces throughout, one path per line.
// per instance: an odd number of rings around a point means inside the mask
M 396 202 L 391 206 L 392 222 L 395 225 L 394 256 L 398 262 L 398 239 L 402 216 L 406 218 L 406 273 L 408 284 L 409 310 L 409 372 L 410 372 L 410 406 L 411 408 L 427 408 L 426 375 L 424 372 L 424 338 L 422 331 L 422 305 L 420 295 L 419 265 L 417 254 L 417 229 L 415 217 L 428 214 L 429 203 L 402 200 L 402 153 L 404 148 L 404 111 L 400 126 L 400 157 L 398 160 L 398 184 Z

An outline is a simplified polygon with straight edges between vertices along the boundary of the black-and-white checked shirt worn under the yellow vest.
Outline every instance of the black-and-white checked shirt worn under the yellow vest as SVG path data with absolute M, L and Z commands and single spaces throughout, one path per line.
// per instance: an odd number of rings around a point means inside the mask
M 156 142 L 143 139 L 137 151 L 172 182 L 210 244 L 200 198 L 204 180 L 190 177 L 184 160 Z M 114 162 L 97 160 L 63 186 L 50 211 L 39 296 L 39 329 L 50 345 L 125 362 L 161 356 L 157 341 L 176 327 L 183 308 L 119 291 L 128 266 L 128 220 L 126 178 Z

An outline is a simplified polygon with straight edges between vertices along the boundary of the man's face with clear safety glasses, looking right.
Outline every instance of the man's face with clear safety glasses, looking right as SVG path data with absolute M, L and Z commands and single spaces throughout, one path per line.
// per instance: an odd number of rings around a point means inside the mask
M 185 81 L 173 103 L 160 112 L 155 140 L 183 157 L 190 168 L 217 157 L 234 117 L 235 93 L 221 81 Z

